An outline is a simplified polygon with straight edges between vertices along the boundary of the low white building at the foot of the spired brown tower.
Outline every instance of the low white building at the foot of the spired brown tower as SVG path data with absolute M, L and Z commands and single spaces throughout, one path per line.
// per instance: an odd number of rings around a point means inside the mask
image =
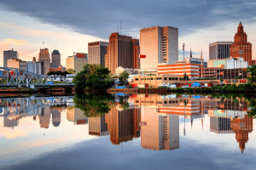
M 241 69 L 247 68 L 247 61 L 243 58 L 229 58 L 229 59 L 210 59 L 207 61 L 209 67 L 220 67 L 224 69 Z

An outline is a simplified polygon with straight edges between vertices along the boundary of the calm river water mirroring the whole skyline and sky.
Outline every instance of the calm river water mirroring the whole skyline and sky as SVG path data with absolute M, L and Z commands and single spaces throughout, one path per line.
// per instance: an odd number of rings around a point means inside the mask
M 1 169 L 256 169 L 244 98 L 0 99 Z

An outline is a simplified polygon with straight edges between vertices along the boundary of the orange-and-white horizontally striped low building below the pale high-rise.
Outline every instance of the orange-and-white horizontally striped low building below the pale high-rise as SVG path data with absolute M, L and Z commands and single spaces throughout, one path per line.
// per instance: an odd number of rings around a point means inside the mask
M 186 73 L 186 75 L 189 77 L 189 79 L 193 80 L 201 77 L 201 65 L 199 64 L 157 65 L 157 72 L 159 75 L 160 74 L 176 74 L 176 75 L 179 75 L 179 77 L 183 77 L 183 70 Z

